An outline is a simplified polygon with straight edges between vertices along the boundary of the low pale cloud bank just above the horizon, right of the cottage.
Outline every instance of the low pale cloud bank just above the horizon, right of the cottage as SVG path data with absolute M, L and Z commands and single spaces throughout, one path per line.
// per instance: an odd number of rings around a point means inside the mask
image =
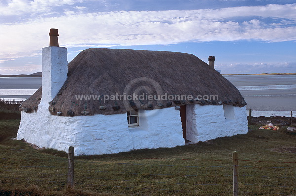
M 296 73 L 296 62 L 220 64 L 215 69 L 221 70 L 221 74 Z

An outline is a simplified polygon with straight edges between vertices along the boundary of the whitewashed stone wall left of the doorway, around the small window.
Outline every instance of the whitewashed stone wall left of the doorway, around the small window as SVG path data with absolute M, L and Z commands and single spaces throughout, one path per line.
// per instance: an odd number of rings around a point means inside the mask
M 65 152 L 74 146 L 75 153 L 86 155 L 184 145 L 179 110 L 142 111 L 141 127 L 129 129 L 126 114 L 54 116 L 43 102 L 37 112 L 22 112 L 17 139 Z

